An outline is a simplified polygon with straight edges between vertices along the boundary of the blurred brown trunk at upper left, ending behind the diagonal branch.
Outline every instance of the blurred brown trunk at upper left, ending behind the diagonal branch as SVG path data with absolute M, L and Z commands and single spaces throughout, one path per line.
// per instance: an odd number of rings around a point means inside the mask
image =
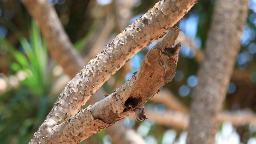
M 83 59 L 74 49 L 56 11 L 48 0 L 23 0 L 30 15 L 37 20 L 52 57 L 73 78 L 84 66 Z

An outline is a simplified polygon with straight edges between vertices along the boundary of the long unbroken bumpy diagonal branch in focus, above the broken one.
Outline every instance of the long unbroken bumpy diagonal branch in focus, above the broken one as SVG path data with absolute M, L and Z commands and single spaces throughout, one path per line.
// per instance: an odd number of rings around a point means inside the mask
M 31 142 L 50 134 L 52 126 L 77 114 L 110 76 L 139 50 L 163 36 L 196 2 L 197 0 L 160 0 L 123 30 L 68 83 Z

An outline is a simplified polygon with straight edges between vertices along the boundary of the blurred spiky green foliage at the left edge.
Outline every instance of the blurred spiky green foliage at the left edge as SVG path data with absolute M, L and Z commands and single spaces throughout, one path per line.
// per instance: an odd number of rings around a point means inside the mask
M 13 24 L 8 26 L 11 30 L 15 29 L 21 44 L 20 50 L 10 45 L 6 38 L 0 39 L 0 45 L 14 58 L 10 68 L 19 75 L 21 87 L 0 96 L 0 141 L 27 143 L 53 103 L 48 98 L 51 70 L 47 67 L 46 44 L 35 20 L 32 20 L 29 40 Z

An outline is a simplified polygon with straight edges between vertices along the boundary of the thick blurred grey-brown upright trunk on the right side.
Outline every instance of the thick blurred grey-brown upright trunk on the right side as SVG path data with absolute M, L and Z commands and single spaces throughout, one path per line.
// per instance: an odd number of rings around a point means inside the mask
M 240 38 L 246 22 L 248 0 L 216 0 L 206 52 L 198 71 L 188 128 L 188 144 L 214 144 Z

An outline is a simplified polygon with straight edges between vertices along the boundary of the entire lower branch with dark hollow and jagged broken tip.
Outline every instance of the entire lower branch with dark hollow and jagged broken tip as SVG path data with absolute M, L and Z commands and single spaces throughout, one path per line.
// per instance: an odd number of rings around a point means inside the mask
M 78 143 L 123 119 L 172 81 L 176 72 L 180 43 L 172 48 L 180 29 L 173 28 L 144 57 L 140 70 L 108 97 L 81 110 L 76 116 L 54 126 L 40 143 Z M 127 102 L 132 108 L 125 108 Z M 47 137 L 47 138 L 46 138 Z

